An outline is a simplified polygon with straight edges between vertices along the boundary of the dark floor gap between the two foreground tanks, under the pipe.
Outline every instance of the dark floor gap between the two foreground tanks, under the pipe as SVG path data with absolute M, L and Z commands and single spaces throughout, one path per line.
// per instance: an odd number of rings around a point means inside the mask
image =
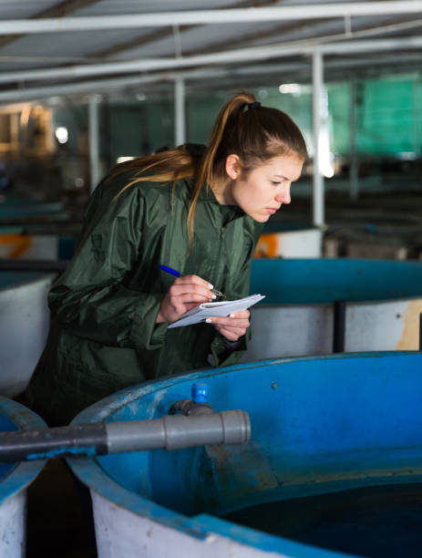
M 65 460 L 48 460 L 27 490 L 26 558 L 95 558 L 88 491 Z

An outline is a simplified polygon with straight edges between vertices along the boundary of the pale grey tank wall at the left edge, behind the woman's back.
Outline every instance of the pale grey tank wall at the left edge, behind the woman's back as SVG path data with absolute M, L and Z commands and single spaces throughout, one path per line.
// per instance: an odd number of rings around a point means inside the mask
M 0 395 L 26 388 L 46 345 L 49 311 L 46 294 L 54 274 L 0 273 Z

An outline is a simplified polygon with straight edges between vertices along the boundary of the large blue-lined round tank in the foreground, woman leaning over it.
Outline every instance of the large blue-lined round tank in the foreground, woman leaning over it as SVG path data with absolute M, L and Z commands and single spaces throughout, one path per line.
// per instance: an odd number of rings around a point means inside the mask
M 231 514 L 369 487 L 417 487 L 421 366 L 413 352 L 262 361 L 163 378 L 87 408 L 76 422 L 160 418 L 201 381 L 214 410 L 241 408 L 252 425 L 244 446 L 69 460 L 91 491 L 98 556 L 344 555 L 242 526 Z

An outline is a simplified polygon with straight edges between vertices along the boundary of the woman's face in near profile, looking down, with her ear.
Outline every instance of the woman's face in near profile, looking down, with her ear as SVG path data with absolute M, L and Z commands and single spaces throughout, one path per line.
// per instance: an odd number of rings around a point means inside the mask
M 232 178 L 228 184 L 231 203 L 257 222 L 267 222 L 283 203 L 290 203 L 290 186 L 301 175 L 304 160 L 296 154 L 281 155 L 255 167 L 242 177 L 240 166 L 236 167 L 236 155 L 226 161 L 226 171 Z

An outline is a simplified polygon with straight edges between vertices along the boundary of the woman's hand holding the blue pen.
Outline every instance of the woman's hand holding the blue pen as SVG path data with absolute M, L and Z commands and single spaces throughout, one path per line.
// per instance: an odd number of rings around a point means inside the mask
M 183 275 L 170 286 L 161 301 L 156 324 L 175 322 L 195 306 L 212 302 L 216 298 L 211 292 L 212 285 L 198 275 Z

